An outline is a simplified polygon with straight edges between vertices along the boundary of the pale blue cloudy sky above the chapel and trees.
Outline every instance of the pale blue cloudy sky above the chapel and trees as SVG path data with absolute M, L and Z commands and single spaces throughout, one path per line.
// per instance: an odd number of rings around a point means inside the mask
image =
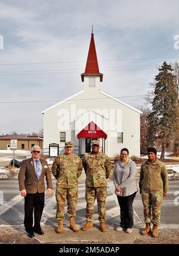
M 0 0 L 0 134 L 38 132 L 42 110 L 83 89 L 92 24 L 101 90 L 131 106 L 156 67 L 179 61 L 177 0 Z

